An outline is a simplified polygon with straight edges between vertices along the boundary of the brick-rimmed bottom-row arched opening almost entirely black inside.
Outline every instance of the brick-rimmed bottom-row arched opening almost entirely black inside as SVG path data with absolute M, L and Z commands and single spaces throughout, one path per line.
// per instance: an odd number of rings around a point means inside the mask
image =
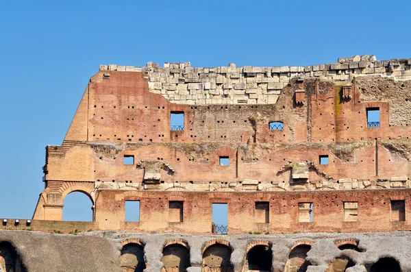
M 273 251 L 266 245 L 256 245 L 247 253 L 249 270 L 271 271 L 273 264 Z

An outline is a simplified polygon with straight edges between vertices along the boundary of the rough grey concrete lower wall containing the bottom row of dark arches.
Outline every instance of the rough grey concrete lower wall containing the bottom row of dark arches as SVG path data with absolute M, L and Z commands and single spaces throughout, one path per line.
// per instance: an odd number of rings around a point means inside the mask
M 271 250 L 270 270 L 275 272 L 297 271 L 294 269 L 301 264 L 306 271 L 321 272 L 411 271 L 408 256 L 411 236 L 408 232 L 195 236 L 178 233 L 86 232 L 69 235 L 0 231 L 0 245 L 5 243 L 9 245 L 8 250 L 16 253 L 12 264 L 14 268 L 16 265 L 20 267 L 19 272 L 124 272 L 142 271 L 143 268 L 146 272 L 185 271 L 185 267 L 179 270 L 179 264 L 188 265 L 187 271 L 246 272 L 251 271 L 249 262 L 258 264 L 250 259 L 249 253 L 259 246 Z M 183 247 L 187 250 L 168 251 L 166 248 L 170 245 L 173 246 L 171 249 Z M 138 258 L 132 250 L 134 247 L 138 248 Z M 3 249 L 0 247 L 0 265 L 1 260 L 5 260 Z M 179 262 L 182 258 L 184 262 Z M 10 264 L 10 258 L 6 259 Z M 390 267 L 375 269 L 376 263 L 384 259 L 391 261 Z

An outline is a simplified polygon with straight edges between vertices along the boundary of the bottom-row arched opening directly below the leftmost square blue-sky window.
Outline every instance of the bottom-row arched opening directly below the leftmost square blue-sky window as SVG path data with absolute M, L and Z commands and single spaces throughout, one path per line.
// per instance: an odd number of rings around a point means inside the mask
M 123 272 L 142 272 L 146 269 L 144 247 L 136 243 L 124 245 L 121 249 L 120 267 Z

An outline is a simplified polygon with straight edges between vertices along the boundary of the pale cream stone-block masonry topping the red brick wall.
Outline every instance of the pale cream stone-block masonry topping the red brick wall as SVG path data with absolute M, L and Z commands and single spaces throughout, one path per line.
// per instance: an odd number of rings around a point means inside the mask
M 201 68 L 190 62 L 149 62 L 147 67 L 101 65 L 100 71 L 132 71 L 145 73 L 149 90 L 161 94 L 171 103 L 204 104 L 273 104 L 280 91 L 293 77 L 324 78 L 335 82 L 351 81 L 358 75 L 387 75 L 411 79 L 411 58 L 377 60 L 374 55 L 339 58 L 332 64 L 312 66 Z M 108 73 L 109 74 L 109 73 Z

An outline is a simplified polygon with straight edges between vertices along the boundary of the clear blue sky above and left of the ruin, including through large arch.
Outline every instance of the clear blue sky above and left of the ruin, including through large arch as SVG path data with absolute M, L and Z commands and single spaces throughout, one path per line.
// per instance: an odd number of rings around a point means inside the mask
M 0 218 L 32 217 L 45 147 L 62 143 L 99 64 L 411 58 L 410 10 L 411 1 L 378 0 L 0 0 Z M 87 197 L 64 204 L 65 219 L 90 217 Z

